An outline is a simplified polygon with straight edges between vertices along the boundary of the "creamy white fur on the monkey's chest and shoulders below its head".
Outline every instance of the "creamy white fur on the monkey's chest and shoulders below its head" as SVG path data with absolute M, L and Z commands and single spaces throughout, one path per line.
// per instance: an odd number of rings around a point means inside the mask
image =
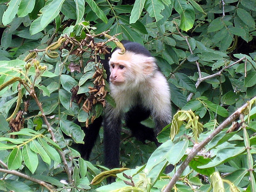
M 151 110 L 153 117 L 171 119 L 170 90 L 160 71 L 150 79 L 132 86 L 115 86 L 111 84 L 111 96 L 116 102 L 115 114 L 126 112 L 135 105 Z

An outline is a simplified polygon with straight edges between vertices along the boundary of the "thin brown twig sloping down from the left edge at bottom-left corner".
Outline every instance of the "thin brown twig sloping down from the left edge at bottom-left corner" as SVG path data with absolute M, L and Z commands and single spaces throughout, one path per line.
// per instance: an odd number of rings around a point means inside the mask
M 28 175 L 25 175 L 23 173 L 17 172 L 15 170 L 8 170 L 8 169 L 0 169 L 0 172 L 11 174 L 11 175 L 16 175 L 16 176 L 22 177 L 22 178 L 24 178 L 26 180 L 30 180 L 30 181 L 32 181 L 34 183 L 38 183 L 39 185 L 46 187 L 50 192 L 53 192 L 52 189 L 54 189 L 54 187 L 51 184 L 45 183 L 44 181 L 35 179 L 35 178 L 30 177 Z

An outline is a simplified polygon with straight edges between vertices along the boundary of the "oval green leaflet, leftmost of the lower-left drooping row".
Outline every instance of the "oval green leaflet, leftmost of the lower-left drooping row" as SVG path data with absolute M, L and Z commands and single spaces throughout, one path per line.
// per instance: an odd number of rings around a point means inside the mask
M 21 161 L 22 161 L 22 154 L 20 151 L 20 148 L 14 148 L 12 152 L 10 153 L 8 157 L 8 169 L 10 170 L 15 170 L 19 169 L 21 166 Z

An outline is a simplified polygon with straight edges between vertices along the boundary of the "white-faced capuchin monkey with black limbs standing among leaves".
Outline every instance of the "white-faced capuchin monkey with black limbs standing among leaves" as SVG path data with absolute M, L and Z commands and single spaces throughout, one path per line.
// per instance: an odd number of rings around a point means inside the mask
M 122 44 L 126 49 L 124 54 L 120 54 L 121 50 L 116 48 L 109 62 L 103 62 L 106 71 L 110 70 L 110 94 L 116 102 L 115 108 L 106 104 L 103 117 L 105 166 L 109 169 L 119 167 L 122 119 L 125 119 L 126 126 L 138 140 L 143 143 L 145 140 L 153 141 L 157 145 L 160 145 L 157 134 L 172 119 L 170 89 L 157 67 L 156 59 L 138 43 L 122 41 Z M 140 123 L 149 116 L 154 119 L 154 129 Z M 101 124 L 102 117 L 99 117 L 89 128 L 84 128 L 85 146 L 81 155 L 87 160 Z

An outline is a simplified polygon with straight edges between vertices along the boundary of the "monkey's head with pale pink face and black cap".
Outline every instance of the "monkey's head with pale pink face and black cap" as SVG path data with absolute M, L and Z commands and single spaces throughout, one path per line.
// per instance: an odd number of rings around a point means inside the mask
M 120 49 L 116 49 L 109 60 L 110 82 L 120 86 L 137 85 L 147 81 L 157 70 L 154 57 L 138 43 L 129 42 L 124 46 L 124 54 L 119 54 Z

